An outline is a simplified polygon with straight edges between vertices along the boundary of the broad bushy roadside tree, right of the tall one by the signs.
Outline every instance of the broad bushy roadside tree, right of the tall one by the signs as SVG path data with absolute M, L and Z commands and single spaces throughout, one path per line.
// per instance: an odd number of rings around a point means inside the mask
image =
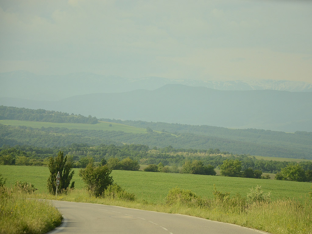
M 89 163 L 85 169 L 79 171 L 79 176 L 85 182 L 86 188 L 90 191 L 91 196 L 99 197 L 105 191 L 107 186 L 113 184 L 112 172 L 107 165 L 94 167 Z

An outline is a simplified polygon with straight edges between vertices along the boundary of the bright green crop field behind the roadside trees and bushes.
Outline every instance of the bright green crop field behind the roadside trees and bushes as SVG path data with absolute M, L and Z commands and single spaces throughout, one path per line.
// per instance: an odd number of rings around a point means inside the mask
M 83 187 L 83 182 L 78 176 L 79 170 L 75 169 L 73 177 L 77 189 Z M 38 188 L 37 193 L 47 192 L 46 181 L 49 176 L 47 167 L 0 166 L 0 173 L 7 178 L 7 185 L 13 185 L 15 181 L 21 180 L 32 183 Z M 232 196 L 240 193 L 242 197 L 249 193 L 251 187 L 259 185 L 265 193 L 271 191 L 273 200 L 295 197 L 299 201 L 304 201 L 311 190 L 311 183 L 268 179 L 121 170 L 113 171 L 112 175 L 115 183 L 127 192 L 134 193 L 140 200 L 153 203 L 163 203 L 169 189 L 174 187 L 190 189 L 197 195 L 212 198 L 213 184 L 216 184 L 217 189 L 223 193 L 231 192 Z

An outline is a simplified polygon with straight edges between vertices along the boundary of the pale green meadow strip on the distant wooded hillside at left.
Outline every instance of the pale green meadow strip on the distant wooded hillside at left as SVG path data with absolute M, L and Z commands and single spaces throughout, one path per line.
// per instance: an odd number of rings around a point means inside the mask
M 82 129 L 82 130 L 103 130 L 103 131 L 122 131 L 126 133 L 147 133 L 146 129 L 136 128 L 129 125 L 109 123 L 99 121 L 98 124 L 76 124 L 76 123 L 50 123 L 50 122 L 35 122 L 35 121 L 21 121 L 21 120 L 0 120 L 0 124 L 11 126 L 26 126 L 32 128 L 52 127 L 52 128 L 68 128 L 68 129 Z M 109 125 L 112 125 L 111 127 Z

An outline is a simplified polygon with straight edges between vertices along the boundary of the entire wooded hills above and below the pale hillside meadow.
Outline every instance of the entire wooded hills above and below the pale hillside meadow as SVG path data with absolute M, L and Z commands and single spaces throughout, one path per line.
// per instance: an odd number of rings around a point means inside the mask
M 1 118 L 37 121 L 87 121 L 95 117 L 69 115 L 67 113 L 30 110 L 1 106 Z M 4 111 L 5 110 L 5 111 Z M 57 118 L 57 117 L 60 118 Z M 76 118 L 76 119 L 75 119 Z M 64 147 L 70 144 L 144 144 L 175 149 L 220 149 L 233 154 L 251 154 L 259 156 L 312 159 L 312 133 L 285 133 L 259 129 L 226 129 L 212 126 L 194 126 L 186 124 L 167 124 L 143 121 L 121 121 L 102 119 L 108 122 L 122 123 L 147 129 L 147 133 L 126 133 L 123 131 L 103 131 L 87 129 L 67 129 L 64 127 L 41 128 L 29 126 L 13 127 L 0 124 L 0 146 L 3 144 L 32 145 L 36 147 Z M 40 123 L 40 122 L 39 122 Z M 92 124 L 90 126 L 96 126 Z M 94 129 L 94 128 L 93 128 Z M 154 131 L 153 131 L 154 130 Z M 160 132 L 156 132 L 160 131 Z

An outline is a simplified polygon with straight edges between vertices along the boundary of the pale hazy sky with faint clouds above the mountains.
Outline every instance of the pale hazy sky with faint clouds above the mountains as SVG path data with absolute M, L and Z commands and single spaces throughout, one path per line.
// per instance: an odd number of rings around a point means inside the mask
M 0 0 L 0 72 L 312 82 L 312 1 Z

